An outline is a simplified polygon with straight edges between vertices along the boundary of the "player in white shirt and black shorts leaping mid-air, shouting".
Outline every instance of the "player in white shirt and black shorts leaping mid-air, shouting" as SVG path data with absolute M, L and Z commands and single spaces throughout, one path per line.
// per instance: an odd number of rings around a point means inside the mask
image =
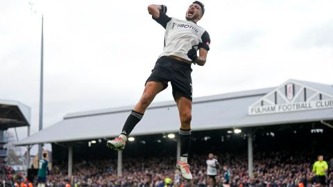
M 191 64 L 203 66 L 210 50 L 210 35 L 196 23 L 203 17 L 203 3 L 194 1 L 186 12 L 186 20 L 166 15 L 167 6 L 150 5 L 148 12 L 165 28 L 164 49 L 146 80 L 144 93 L 128 116 L 119 137 L 108 141 L 109 148 L 123 150 L 130 132 L 144 116 L 148 105 L 171 82 L 173 98 L 180 116 L 180 160 L 176 166 L 182 177 L 192 179 L 187 157 L 191 143 L 192 80 Z M 199 55 L 197 55 L 199 51 Z

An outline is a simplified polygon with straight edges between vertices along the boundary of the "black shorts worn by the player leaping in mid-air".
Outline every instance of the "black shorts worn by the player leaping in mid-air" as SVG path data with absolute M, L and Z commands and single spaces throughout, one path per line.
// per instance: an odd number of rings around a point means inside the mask
M 168 82 L 171 82 L 173 98 L 176 97 L 176 93 L 179 93 L 181 96 L 192 100 L 191 72 L 191 64 L 162 56 L 157 59 L 146 84 L 151 81 L 161 82 L 163 89 L 166 89 Z

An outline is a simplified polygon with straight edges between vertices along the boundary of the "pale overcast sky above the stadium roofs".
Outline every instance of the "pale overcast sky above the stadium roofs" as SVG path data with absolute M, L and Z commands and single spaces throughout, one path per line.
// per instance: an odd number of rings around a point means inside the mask
M 185 19 L 191 2 L 0 0 L 0 99 L 31 107 L 37 132 L 44 12 L 44 127 L 69 112 L 135 105 L 164 41 L 147 6 L 166 4 L 167 15 Z M 198 25 L 212 42 L 205 66 L 192 66 L 194 97 L 289 78 L 333 84 L 333 1 L 203 3 Z M 172 100 L 171 87 L 162 100 Z

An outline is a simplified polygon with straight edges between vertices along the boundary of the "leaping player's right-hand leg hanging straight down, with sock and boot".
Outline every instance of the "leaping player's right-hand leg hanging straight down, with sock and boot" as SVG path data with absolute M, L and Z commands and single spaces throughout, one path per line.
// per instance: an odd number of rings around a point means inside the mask
M 189 154 L 189 146 L 191 144 L 191 119 L 192 119 L 192 101 L 188 98 L 175 94 L 175 100 L 178 106 L 178 112 L 180 117 L 180 160 L 176 166 L 182 177 L 188 180 L 192 179 L 191 172 L 189 171 L 189 164 L 187 163 L 187 156 Z

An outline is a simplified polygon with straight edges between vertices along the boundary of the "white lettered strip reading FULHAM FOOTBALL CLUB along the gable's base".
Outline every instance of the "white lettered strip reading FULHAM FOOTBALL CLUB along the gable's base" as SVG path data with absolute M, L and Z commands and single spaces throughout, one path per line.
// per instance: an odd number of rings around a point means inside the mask
M 333 99 L 251 107 L 248 109 L 248 114 L 250 115 L 271 114 L 278 112 L 297 112 L 310 109 L 327 109 L 327 108 L 333 108 Z

